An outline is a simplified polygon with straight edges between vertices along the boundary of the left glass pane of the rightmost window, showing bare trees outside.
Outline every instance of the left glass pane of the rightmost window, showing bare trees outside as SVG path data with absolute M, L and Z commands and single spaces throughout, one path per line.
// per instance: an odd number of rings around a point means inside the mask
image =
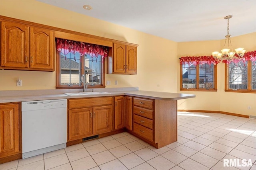
M 248 89 L 247 88 L 247 62 L 230 63 L 228 65 L 229 88 L 231 89 Z

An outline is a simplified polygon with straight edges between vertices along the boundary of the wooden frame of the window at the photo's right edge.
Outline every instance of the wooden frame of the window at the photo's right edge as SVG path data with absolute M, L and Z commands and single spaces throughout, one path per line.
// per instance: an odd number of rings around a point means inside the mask
M 247 61 L 247 87 L 248 89 L 230 89 L 228 85 L 229 80 L 229 64 L 225 63 L 225 92 L 237 92 L 237 93 L 256 93 L 256 89 L 252 89 L 252 61 Z

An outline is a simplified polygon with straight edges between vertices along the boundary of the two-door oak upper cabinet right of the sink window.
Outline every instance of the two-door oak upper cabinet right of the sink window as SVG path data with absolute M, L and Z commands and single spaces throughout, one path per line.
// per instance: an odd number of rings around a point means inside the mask
M 108 56 L 108 74 L 137 74 L 137 47 L 113 44 Z

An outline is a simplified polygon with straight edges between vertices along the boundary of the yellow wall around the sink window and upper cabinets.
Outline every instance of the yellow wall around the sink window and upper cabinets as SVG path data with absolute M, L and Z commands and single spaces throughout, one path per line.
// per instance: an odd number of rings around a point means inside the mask
M 111 81 L 107 87 L 138 86 L 140 90 L 176 92 L 178 68 L 174 63 L 178 43 L 174 41 L 35 0 L 1 0 L 0 15 L 138 44 L 138 74 L 106 74 L 106 80 Z M 22 87 L 16 86 L 19 77 Z M 0 90 L 55 89 L 56 86 L 56 72 L 0 70 L 0 78 Z M 115 80 L 118 85 L 114 85 Z

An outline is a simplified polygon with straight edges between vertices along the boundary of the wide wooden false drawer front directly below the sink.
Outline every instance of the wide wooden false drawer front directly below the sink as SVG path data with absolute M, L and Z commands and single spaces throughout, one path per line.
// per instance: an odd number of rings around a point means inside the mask
M 100 105 L 112 105 L 112 97 L 110 98 L 82 98 L 68 100 L 69 109 L 80 107 L 91 107 Z

